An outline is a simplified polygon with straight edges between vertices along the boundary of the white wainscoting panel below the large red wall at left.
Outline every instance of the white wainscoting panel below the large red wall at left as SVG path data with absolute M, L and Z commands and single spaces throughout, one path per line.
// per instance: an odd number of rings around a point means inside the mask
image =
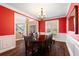
M 0 36 L 0 53 L 16 47 L 15 35 Z

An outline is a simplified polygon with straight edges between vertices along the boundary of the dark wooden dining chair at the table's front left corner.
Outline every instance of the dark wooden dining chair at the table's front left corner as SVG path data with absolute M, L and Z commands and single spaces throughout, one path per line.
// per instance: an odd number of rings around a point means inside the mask
M 33 41 L 33 37 L 31 36 L 24 36 L 25 41 L 25 54 L 27 56 L 35 55 L 38 52 L 38 46 Z

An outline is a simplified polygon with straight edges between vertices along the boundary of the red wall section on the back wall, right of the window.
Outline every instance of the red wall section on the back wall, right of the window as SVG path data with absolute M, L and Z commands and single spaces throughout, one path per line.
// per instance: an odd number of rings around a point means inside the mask
M 59 33 L 66 33 L 66 17 L 59 18 Z

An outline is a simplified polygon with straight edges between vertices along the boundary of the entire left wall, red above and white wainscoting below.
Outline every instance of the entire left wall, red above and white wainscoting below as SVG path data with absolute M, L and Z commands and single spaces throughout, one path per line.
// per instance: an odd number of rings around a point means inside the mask
M 16 47 L 14 11 L 0 5 L 0 53 Z

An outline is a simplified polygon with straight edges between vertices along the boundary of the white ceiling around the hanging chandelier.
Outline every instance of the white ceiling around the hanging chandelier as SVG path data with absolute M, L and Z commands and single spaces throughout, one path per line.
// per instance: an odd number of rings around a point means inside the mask
M 41 8 L 44 10 L 46 18 L 66 16 L 69 3 L 7 3 L 7 5 L 29 14 L 33 18 L 38 18 Z

